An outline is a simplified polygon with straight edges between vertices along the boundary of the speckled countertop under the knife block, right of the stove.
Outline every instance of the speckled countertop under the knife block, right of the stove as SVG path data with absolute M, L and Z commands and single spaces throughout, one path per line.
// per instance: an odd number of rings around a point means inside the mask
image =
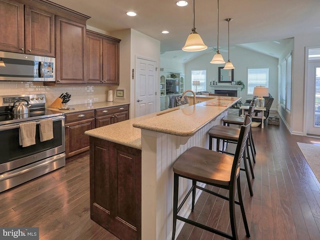
M 99 102 L 92 102 L 92 103 L 68 105 L 69 109 L 65 109 L 65 110 L 64 109 L 60 110 L 60 109 L 54 108 L 54 107 L 47 107 L 47 109 L 54 110 L 54 111 L 60 111 L 60 112 L 64 112 L 64 113 L 71 113 L 71 112 L 77 112 L 77 111 L 98 109 L 98 108 L 103 108 L 103 107 L 119 106 L 119 105 L 124 105 L 124 104 L 129 104 L 129 102 L 99 101 Z

